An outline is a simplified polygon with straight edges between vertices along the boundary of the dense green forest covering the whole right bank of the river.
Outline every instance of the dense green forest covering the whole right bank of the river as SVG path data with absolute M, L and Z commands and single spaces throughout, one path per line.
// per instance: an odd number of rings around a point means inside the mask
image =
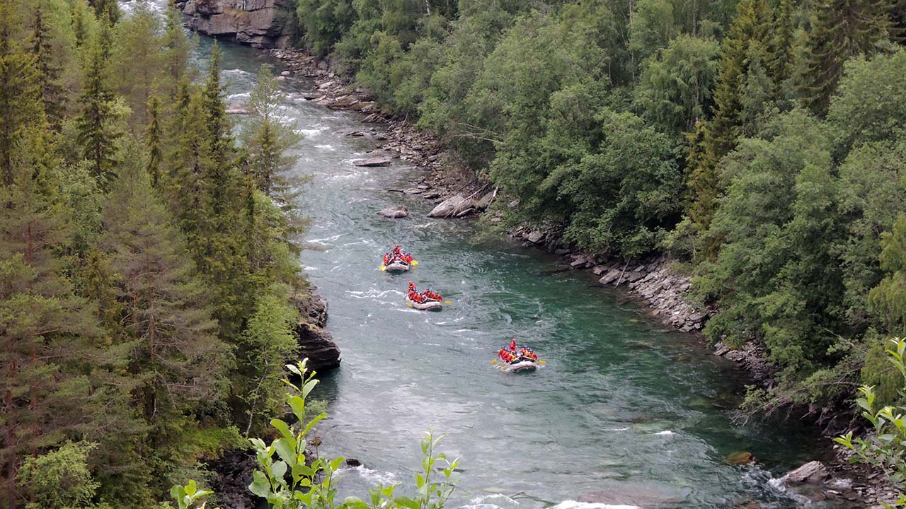
M 866 353 L 906 326 L 882 283 L 900 269 L 881 235 L 906 205 L 903 20 L 886 1 L 297 6 L 319 54 L 503 191 L 500 226 L 694 264 L 718 309 L 708 337 L 766 345 L 763 408 L 843 426 L 847 388 L 890 378 Z

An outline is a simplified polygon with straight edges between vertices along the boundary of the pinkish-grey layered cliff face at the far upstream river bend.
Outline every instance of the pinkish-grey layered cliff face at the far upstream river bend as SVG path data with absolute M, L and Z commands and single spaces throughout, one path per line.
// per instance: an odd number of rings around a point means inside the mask
M 285 48 L 293 34 L 292 0 L 185 0 L 199 34 L 229 38 L 258 48 Z

